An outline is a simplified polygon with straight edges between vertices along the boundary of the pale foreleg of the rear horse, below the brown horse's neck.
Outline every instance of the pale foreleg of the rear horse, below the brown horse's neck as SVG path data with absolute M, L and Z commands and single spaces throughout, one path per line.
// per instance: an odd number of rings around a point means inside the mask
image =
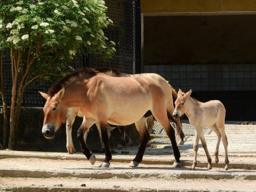
M 72 109 L 67 109 L 66 120 L 66 133 L 67 133 L 67 150 L 69 154 L 76 153 L 73 141 L 72 141 L 72 125 L 75 121 L 77 112 Z

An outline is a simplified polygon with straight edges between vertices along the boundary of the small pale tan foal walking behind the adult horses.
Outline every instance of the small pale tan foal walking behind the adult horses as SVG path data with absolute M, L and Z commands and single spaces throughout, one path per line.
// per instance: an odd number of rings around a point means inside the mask
M 210 130 L 214 131 L 217 136 L 217 145 L 215 150 L 215 162 L 219 162 L 218 154 L 219 154 L 219 146 L 222 138 L 222 142 L 225 148 L 225 168 L 224 170 L 228 170 L 228 154 L 227 154 L 227 136 L 225 134 L 225 114 L 226 110 L 224 105 L 218 100 L 211 100 L 208 102 L 200 102 L 192 97 L 190 97 L 191 90 L 187 93 L 182 92 L 179 89 L 178 97 L 175 101 L 175 111 L 173 113 L 174 118 L 179 118 L 183 113 L 189 119 L 191 125 L 195 127 L 196 130 L 196 141 L 194 144 L 194 161 L 191 166 L 191 170 L 195 170 L 197 165 L 197 152 L 198 152 L 198 143 L 199 138 L 201 139 L 201 143 L 203 145 L 204 151 L 208 160 L 208 169 L 211 169 L 211 157 L 207 149 L 206 141 L 203 135 L 203 129 L 208 127 Z

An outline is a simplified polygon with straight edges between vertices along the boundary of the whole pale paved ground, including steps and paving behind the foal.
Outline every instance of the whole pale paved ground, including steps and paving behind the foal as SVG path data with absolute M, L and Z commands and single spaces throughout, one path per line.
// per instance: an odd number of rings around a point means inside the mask
M 254 122 L 254 124 L 256 124 Z M 220 162 L 207 170 L 202 146 L 195 171 L 193 127 L 183 122 L 185 144 L 179 145 L 183 167 L 172 168 L 173 153 L 158 124 L 150 147 L 138 167 L 129 167 L 138 148 L 115 150 L 109 168 L 98 167 L 104 154 L 95 154 L 92 166 L 81 154 L 0 151 L 0 191 L 256 191 L 256 125 L 226 122 L 229 170 L 224 171 L 224 148 Z M 210 154 L 217 136 L 204 131 Z M 214 158 L 212 158 L 214 160 Z

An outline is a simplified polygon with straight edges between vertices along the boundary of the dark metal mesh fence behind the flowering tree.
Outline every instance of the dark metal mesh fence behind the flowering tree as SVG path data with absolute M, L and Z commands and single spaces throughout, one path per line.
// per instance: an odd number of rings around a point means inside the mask
M 75 70 L 83 67 L 110 67 L 122 73 L 140 73 L 140 1 L 139 0 L 106 0 L 108 12 L 106 15 L 113 21 L 113 26 L 104 30 L 105 36 L 116 43 L 116 54 L 113 59 L 103 61 L 100 55 L 76 56 L 68 63 Z M 1 56 L 1 53 L 0 53 Z M 12 74 L 11 60 L 8 50 L 4 53 L 4 84 L 7 102 L 11 102 Z M 23 106 L 42 106 L 45 99 L 38 91 L 47 92 L 51 87 L 50 81 L 34 80 L 25 89 Z M 2 100 L 0 101 L 0 104 Z

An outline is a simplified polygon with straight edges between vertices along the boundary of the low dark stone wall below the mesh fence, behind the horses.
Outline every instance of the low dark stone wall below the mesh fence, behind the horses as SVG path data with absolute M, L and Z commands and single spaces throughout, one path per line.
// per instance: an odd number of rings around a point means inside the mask
M 22 108 L 17 138 L 17 151 L 38 151 L 38 152 L 67 152 L 66 148 L 66 125 L 62 124 L 53 139 L 46 139 L 41 132 L 44 121 L 42 108 Z M 3 110 L 0 107 L 0 138 L 3 139 Z M 77 117 L 72 130 L 72 138 L 75 149 L 81 152 L 79 141 L 76 137 L 77 130 L 82 123 L 82 118 Z M 135 144 L 139 144 L 139 134 L 133 125 L 126 126 L 126 134 L 133 139 Z M 0 140 L 0 142 L 3 142 Z M 110 137 L 111 148 L 117 148 L 120 142 L 118 130 L 114 129 Z M 101 150 L 97 127 L 91 127 L 87 137 L 87 144 L 90 150 Z

